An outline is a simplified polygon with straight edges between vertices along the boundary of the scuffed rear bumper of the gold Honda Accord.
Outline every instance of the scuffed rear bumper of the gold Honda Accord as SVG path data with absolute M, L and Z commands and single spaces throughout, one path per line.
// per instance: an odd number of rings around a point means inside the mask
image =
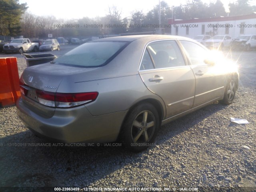
M 56 109 L 52 117 L 41 116 L 18 99 L 20 119 L 36 135 L 59 142 L 112 142 L 118 137 L 127 111 L 92 116 L 85 106 Z

